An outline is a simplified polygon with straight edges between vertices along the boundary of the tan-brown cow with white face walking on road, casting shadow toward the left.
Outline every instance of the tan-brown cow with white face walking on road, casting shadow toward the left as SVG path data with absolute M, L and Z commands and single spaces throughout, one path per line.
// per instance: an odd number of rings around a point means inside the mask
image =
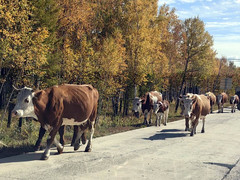
M 199 119 L 202 119 L 202 133 L 205 132 L 205 118 L 210 113 L 210 100 L 205 95 L 194 94 L 191 97 L 182 98 L 184 104 L 184 115 L 192 121 L 191 136 L 196 134 Z

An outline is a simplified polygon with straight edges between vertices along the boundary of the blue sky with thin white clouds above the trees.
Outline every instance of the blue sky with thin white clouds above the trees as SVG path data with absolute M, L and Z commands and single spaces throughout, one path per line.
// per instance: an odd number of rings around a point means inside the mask
M 198 16 L 205 23 L 205 30 L 213 36 L 217 57 L 238 59 L 240 66 L 240 0 L 159 0 L 176 9 L 179 19 Z

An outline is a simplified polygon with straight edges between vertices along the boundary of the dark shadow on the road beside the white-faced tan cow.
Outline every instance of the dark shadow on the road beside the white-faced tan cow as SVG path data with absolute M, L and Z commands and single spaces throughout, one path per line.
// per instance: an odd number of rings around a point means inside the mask
M 156 134 L 153 136 L 150 136 L 149 138 L 143 138 L 145 140 L 165 140 L 165 139 L 171 139 L 171 138 L 181 138 L 189 136 L 189 132 L 180 130 L 180 129 L 164 129 L 162 131 L 157 131 Z

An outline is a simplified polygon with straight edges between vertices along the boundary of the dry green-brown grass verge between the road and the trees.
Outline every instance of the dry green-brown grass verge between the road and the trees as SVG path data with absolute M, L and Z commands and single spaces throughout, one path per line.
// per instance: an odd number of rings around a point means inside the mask
M 180 108 L 177 113 L 174 112 L 174 109 L 175 104 L 171 104 L 168 122 L 183 119 L 180 115 Z M 217 106 L 215 106 L 214 109 L 217 109 Z M 152 118 L 152 124 L 154 124 L 155 116 Z M 143 127 L 146 127 L 143 125 L 143 116 L 139 119 L 131 115 L 124 118 L 122 116 L 117 116 L 115 118 L 111 116 L 100 116 L 96 125 L 94 137 L 106 136 Z M 26 121 L 25 119 L 23 120 L 21 131 L 18 128 L 17 119 L 12 119 L 11 127 L 7 128 L 7 119 L 4 119 L 0 127 L 0 158 L 33 151 L 34 144 L 38 138 L 39 128 L 40 124 L 38 122 Z M 72 135 L 73 127 L 67 126 L 64 135 L 66 144 L 71 143 Z M 57 135 L 57 138 L 59 139 L 59 135 Z M 46 146 L 46 140 L 47 135 L 45 135 L 42 140 L 42 149 Z

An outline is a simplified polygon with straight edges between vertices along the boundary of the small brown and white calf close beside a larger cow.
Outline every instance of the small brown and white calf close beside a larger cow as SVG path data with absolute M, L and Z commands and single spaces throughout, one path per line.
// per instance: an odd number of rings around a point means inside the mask
M 167 100 L 158 101 L 153 106 L 153 111 L 156 114 L 156 126 L 161 125 L 161 120 L 163 118 L 163 124 L 167 125 L 168 113 L 169 113 L 169 102 Z

